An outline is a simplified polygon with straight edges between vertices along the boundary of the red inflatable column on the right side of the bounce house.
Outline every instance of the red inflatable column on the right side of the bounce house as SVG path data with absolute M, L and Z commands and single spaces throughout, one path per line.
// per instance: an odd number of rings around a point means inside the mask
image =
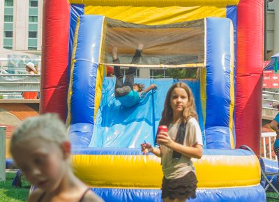
M 264 1 L 241 0 L 237 6 L 236 147 L 259 155 L 262 123 Z

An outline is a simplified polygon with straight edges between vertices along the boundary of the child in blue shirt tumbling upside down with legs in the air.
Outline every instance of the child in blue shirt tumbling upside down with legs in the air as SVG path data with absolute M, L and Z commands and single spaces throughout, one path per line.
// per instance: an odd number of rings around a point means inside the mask
M 131 64 L 136 64 L 140 61 L 140 57 L 142 56 L 142 49 L 144 45 L 139 44 L 135 55 L 133 56 Z M 114 64 L 119 64 L 119 58 L 117 56 L 117 48 L 114 47 L 112 49 L 112 62 Z M 148 88 L 144 89 L 144 84 L 134 84 L 134 75 L 137 68 L 130 67 L 128 69 L 128 73 L 126 75 L 126 79 L 123 84 L 123 75 L 120 70 L 120 66 L 114 66 L 114 74 L 116 75 L 116 84 L 114 95 L 116 100 L 119 100 L 124 107 L 133 107 L 137 103 L 144 98 L 146 93 L 151 91 L 152 89 L 156 89 L 157 86 L 155 84 L 151 84 Z

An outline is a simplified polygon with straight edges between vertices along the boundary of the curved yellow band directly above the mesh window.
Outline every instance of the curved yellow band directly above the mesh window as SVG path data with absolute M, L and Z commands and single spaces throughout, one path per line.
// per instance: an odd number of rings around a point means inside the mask
M 86 6 L 84 14 L 104 15 L 112 19 L 136 24 L 160 25 L 197 20 L 204 17 L 226 17 L 227 9 L 217 6 Z

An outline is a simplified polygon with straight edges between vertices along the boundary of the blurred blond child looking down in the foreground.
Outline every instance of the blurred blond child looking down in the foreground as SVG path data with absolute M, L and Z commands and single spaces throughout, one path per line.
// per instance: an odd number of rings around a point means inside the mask
M 103 201 L 73 174 L 66 127 L 55 114 L 24 121 L 13 133 L 10 153 L 27 180 L 38 187 L 28 201 Z

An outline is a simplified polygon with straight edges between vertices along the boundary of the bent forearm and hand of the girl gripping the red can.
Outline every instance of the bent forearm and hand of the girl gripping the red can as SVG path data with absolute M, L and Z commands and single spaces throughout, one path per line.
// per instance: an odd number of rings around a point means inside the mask
M 176 143 L 171 137 L 169 137 L 167 132 L 160 132 L 158 134 L 157 141 L 158 143 L 165 144 L 165 146 L 171 148 L 172 150 L 181 153 L 181 155 L 196 159 L 200 159 L 202 157 L 202 145 L 196 143 L 193 146 L 185 146 L 180 143 Z

